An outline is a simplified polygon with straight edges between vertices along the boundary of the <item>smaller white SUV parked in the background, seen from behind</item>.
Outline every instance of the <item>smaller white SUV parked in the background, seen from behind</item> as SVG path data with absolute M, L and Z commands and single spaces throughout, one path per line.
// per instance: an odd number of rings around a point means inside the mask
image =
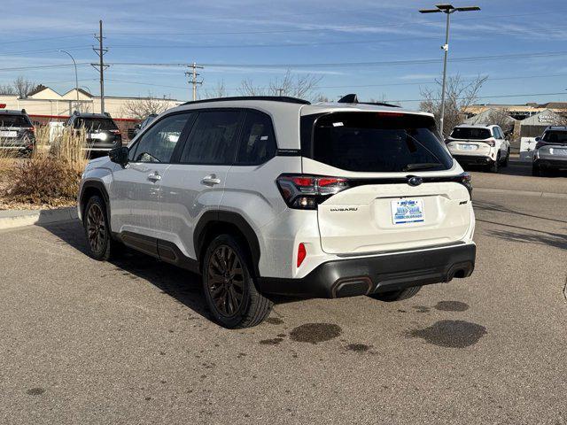
M 486 166 L 492 173 L 498 173 L 499 166 L 508 166 L 510 143 L 498 126 L 462 124 L 453 129 L 445 143 L 463 165 Z

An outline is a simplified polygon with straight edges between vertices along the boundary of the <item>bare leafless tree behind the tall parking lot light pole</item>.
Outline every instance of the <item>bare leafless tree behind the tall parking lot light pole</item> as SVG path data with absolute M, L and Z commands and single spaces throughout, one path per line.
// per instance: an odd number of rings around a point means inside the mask
M 445 117 L 443 134 L 447 135 L 465 119 L 464 110 L 478 100 L 478 91 L 482 88 L 488 77 L 478 75 L 473 81 L 463 81 L 460 75 L 447 79 L 445 96 Z M 422 111 L 431 112 L 439 125 L 441 112 L 441 82 L 437 81 L 437 89 L 420 89 L 423 98 L 420 103 Z

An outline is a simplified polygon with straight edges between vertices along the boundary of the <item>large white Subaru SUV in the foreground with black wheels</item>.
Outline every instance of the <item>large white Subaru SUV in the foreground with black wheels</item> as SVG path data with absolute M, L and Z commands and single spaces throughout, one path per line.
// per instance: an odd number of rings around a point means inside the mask
M 91 255 L 125 244 L 202 274 L 227 328 L 264 320 L 272 294 L 393 301 L 474 268 L 470 175 L 429 113 L 202 100 L 109 157 L 81 182 Z

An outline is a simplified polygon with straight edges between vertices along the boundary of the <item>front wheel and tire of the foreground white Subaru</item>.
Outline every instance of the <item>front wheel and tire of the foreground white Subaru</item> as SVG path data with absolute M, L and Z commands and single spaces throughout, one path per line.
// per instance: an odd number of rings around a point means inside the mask
M 87 248 L 93 259 L 108 261 L 119 256 L 122 246 L 113 240 L 106 217 L 106 206 L 100 197 L 93 196 L 87 201 L 82 226 L 85 230 Z

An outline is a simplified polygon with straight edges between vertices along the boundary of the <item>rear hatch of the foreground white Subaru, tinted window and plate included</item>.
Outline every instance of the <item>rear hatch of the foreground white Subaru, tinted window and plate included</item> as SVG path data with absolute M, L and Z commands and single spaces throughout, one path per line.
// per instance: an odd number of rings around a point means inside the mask
M 315 120 L 309 143 L 303 173 L 340 181 L 316 183 L 336 192 L 317 205 L 323 251 L 411 250 L 460 243 L 469 231 L 468 174 L 450 171 L 430 116 L 330 113 Z

